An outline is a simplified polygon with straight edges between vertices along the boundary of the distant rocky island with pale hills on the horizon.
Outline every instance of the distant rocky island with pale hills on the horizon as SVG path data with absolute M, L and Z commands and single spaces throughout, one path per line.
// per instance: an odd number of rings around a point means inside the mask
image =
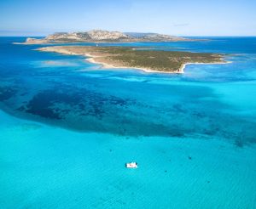
M 175 37 L 159 33 L 138 33 L 120 31 L 56 32 L 44 38 L 26 38 L 21 44 L 49 44 L 65 42 L 190 42 L 194 39 Z

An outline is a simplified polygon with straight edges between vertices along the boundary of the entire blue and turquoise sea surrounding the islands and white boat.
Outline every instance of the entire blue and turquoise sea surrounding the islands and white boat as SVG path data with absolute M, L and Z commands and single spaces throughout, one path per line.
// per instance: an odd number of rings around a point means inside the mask
M 175 75 L 0 37 L 0 208 L 256 208 L 256 37 L 207 38 L 100 44 L 231 61 Z

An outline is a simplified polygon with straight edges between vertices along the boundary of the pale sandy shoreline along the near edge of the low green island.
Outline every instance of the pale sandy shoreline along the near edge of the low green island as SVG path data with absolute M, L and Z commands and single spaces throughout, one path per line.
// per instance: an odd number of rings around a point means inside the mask
M 141 71 L 148 72 L 148 73 L 182 74 L 182 73 L 184 73 L 184 69 L 185 69 L 186 65 L 192 65 L 192 64 L 196 64 L 196 65 L 223 65 L 223 64 L 231 63 L 230 61 L 225 61 L 225 60 L 223 60 L 223 62 L 212 62 L 212 63 L 198 63 L 198 62 L 190 63 L 190 62 L 188 62 L 188 63 L 185 63 L 185 64 L 181 65 L 180 68 L 177 71 L 155 71 L 153 69 L 148 69 L 148 68 L 115 66 L 115 65 L 111 65 L 111 64 L 108 64 L 108 63 L 105 63 L 105 62 L 95 60 L 95 58 L 101 57 L 101 56 L 96 56 L 96 55 L 92 55 L 92 54 L 88 54 L 88 53 L 78 54 L 78 53 L 69 52 L 65 49 L 60 49 L 60 48 L 54 48 L 54 47 L 38 48 L 37 50 L 43 51 L 43 52 L 55 52 L 55 53 L 69 54 L 69 55 L 84 55 L 86 57 L 86 61 L 88 61 L 90 63 L 102 65 L 102 69 L 109 69 L 109 68 L 113 68 L 113 69 L 137 69 L 137 70 L 141 70 Z

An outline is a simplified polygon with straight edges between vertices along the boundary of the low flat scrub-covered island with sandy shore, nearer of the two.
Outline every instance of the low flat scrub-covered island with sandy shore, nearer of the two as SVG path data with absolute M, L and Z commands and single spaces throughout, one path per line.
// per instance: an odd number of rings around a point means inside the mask
M 103 68 L 134 68 L 147 72 L 183 73 L 188 64 L 224 64 L 224 54 L 167 51 L 158 48 L 52 46 L 44 52 L 84 55 Z

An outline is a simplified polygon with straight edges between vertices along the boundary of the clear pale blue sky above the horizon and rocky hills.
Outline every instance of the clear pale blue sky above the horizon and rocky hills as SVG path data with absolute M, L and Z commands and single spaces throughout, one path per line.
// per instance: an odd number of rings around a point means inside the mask
M 252 0 L 1 0 L 0 36 L 91 29 L 256 36 L 255 11 Z

